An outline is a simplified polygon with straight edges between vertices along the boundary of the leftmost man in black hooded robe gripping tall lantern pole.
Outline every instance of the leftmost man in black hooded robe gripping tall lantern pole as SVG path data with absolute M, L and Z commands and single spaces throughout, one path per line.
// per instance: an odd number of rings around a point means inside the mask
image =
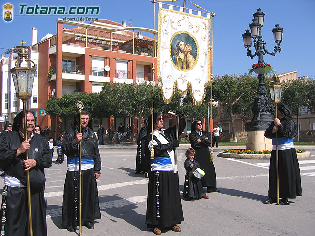
M 13 131 L 0 139 L 0 169 L 4 178 L 0 230 L 4 236 L 29 235 L 26 171 L 30 173 L 32 228 L 34 236 L 46 236 L 46 209 L 44 200 L 44 168 L 51 165 L 47 142 L 33 133 L 34 115 L 27 111 L 27 140 L 24 140 L 24 111 L 13 122 Z M 28 150 L 28 160 L 25 152 Z

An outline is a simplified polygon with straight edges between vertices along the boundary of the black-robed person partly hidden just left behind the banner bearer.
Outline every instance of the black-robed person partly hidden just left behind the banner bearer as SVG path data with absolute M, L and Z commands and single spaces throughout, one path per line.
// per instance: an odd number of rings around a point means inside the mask
M 140 174 L 140 172 L 142 171 L 143 173 L 144 171 L 144 156 L 145 156 L 145 141 L 146 141 L 146 136 L 147 136 L 147 132 L 148 132 L 148 119 L 144 119 L 143 122 L 143 127 L 140 129 L 139 132 L 139 137 L 137 140 L 137 157 L 136 157 L 136 174 Z

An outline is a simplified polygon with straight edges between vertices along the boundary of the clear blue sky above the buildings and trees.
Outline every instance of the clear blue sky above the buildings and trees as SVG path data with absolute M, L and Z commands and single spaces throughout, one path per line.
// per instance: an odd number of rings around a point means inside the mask
M 297 70 L 298 77 L 309 76 L 315 78 L 315 27 L 314 9 L 315 0 L 192 0 L 208 11 L 214 12 L 214 44 L 213 44 L 213 74 L 224 75 L 248 72 L 253 63 L 257 63 L 257 56 L 250 59 L 246 56 L 243 45 L 242 34 L 249 29 L 252 22 L 252 14 L 257 8 L 265 13 L 264 26 L 261 30 L 263 40 L 267 42 L 268 51 L 273 51 L 276 45 L 271 29 L 275 24 L 284 28 L 281 52 L 276 56 L 264 55 L 264 61 L 271 64 L 277 73 Z M 14 46 L 20 45 L 23 39 L 30 45 L 32 42 L 32 27 L 38 29 L 38 40 L 47 33 L 56 34 L 57 18 L 67 16 L 26 16 L 20 15 L 20 4 L 27 6 L 99 6 L 98 19 L 109 19 L 116 22 L 126 20 L 129 25 L 130 18 L 133 26 L 153 29 L 153 4 L 150 0 L 102 0 L 86 1 L 76 0 L 73 3 L 64 0 L 1 0 L 1 11 L 3 5 L 10 3 L 14 6 L 14 19 L 7 23 L 0 20 L 0 53 Z M 172 3 L 183 6 L 183 0 Z M 186 8 L 197 10 L 188 0 Z M 158 29 L 158 5 L 155 13 L 155 29 Z M 89 22 L 88 22 L 89 23 Z M 150 35 L 147 35 L 150 36 Z M 3 49 L 4 48 L 4 49 Z M 254 48 L 252 47 L 252 51 Z

